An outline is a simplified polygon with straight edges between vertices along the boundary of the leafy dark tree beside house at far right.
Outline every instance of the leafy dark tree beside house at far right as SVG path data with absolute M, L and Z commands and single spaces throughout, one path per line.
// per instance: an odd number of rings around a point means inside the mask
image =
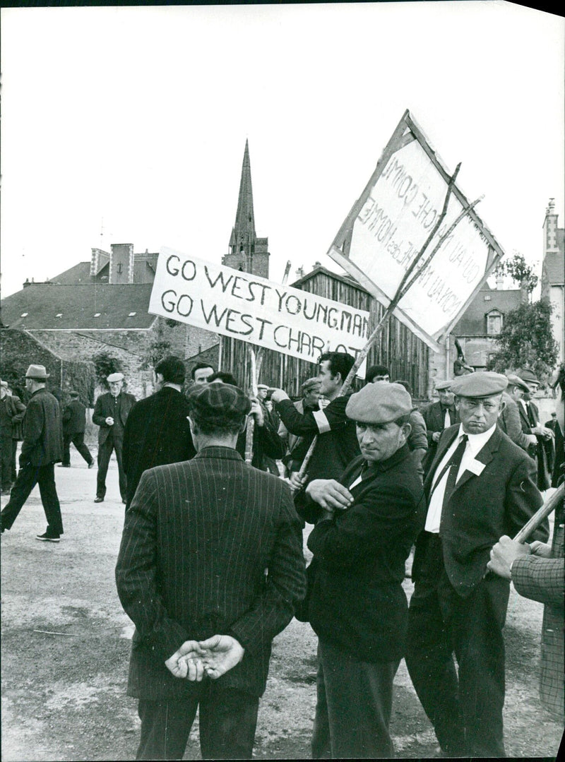
M 545 299 L 524 303 L 504 319 L 487 369 L 506 373 L 518 368 L 532 370 L 539 379 L 547 377 L 557 363 L 557 344 L 551 332 L 551 304 Z

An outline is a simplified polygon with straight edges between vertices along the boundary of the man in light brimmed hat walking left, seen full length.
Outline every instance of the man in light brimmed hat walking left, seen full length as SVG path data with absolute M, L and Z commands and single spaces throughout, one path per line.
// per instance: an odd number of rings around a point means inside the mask
M 10 500 L 2 511 L 2 532 L 11 528 L 37 484 L 47 517 L 47 530 L 38 534 L 37 539 L 58 543 L 63 534 L 63 520 L 55 486 L 55 463 L 63 457 L 63 427 L 59 402 L 45 388 L 48 378 L 43 365 L 27 368 L 25 388 L 31 398 L 23 421 L 20 470 Z

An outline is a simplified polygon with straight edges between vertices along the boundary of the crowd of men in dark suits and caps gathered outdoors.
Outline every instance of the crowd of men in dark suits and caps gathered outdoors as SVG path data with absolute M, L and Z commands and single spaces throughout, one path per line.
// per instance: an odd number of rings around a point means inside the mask
M 563 505 L 551 545 L 547 519 L 528 543 L 512 537 L 541 491 L 563 481 L 565 368 L 550 383 L 555 415 L 541 425 L 530 370 L 437 381 L 438 401 L 419 411 L 409 383 L 391 383 L 384 366 L 345 389 L 353 363 L 323 354 L 294 401 L 266 384 L 249 396 L 206 363 L 185 394 L 177 357 L 156 365 L 156 392 L 140 401 L 122 373 L 108 376 L 92 416 L 95 502 L 114 452 L 138 759 L 181 759 L 198 708 L 203 758 L 251 758 L 271 642 L 293 616 L 318 636 L 313 758 L 393 756 L 402 658 L 438 754 L 503 757 L 510 580 L 545 604 L 541 700 L 563 718 Z M 30 365 L 27 408 L 2 381 L 2 532 L 38 484 L 47 530 L 37 539 L 58 542 L 54 466 L 69 467 L 70 443 L 88 468 L 95 462 L 78 393 L 61 413 L 47 378 Z

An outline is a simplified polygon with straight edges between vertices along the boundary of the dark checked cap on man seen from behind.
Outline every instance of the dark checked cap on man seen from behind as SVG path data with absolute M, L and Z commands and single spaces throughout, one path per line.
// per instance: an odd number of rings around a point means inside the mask
M 192 387 L 188 394 L 190 415 L 213 426 L 239 424 L 251 410 L 249 398 L 239 389 L 226 383 L 205 383 Z

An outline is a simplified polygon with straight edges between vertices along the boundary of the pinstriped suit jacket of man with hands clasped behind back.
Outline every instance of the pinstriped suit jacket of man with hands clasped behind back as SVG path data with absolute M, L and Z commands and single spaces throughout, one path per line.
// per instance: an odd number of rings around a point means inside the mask
M 271 641 L 305 589 L 288 485 L 230 447 L 149 469 L 126 511 L 116 581 L 136 626 L 130 696 L 178 699 L 196 690 L 164 662 L 185 640 L 215 634 L 246 649 L 222 683 L 262 695 Z

